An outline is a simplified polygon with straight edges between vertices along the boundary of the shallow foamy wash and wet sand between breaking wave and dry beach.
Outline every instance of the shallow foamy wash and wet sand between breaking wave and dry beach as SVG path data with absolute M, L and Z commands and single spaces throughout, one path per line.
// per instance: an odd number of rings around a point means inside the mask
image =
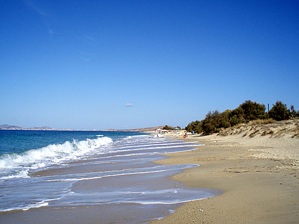
M 61 165 L 49 166 L 50 169 L 28 173 L 33 179 L 11 178 L 6 186 L 16 186 L 16 189 L 11 188 L 13 190 L 10 191 L 9 187 L 6 188 L 3 185 L 3 198 L 1 199 L 4 200 L 1 202 L 3 206 L 5 203 L 10 205 L 12 202 L 12 206 L 6 206 L 8 209 L 2 210 L 0 213 L 1 223 L 29 224 L 35 223 L 35 219 L 38 217 L 42 223 L 144 224 L 152 219 L 167 216 L 170 211 L 173 211 L 173 208 L 179 206 L 177 205 L 178 201 L 185 202 L 201 198 L 200 191 L 188 192 L 188 189 L 184 188 L 184 184 L 168 179 L 171 174 L 181 172 L 183 167 L 194 166 L 176 165 L 164 169 L 164 167 L 150 163 L 150 161 L 165 158 L 160 153 L 177 151 L 178 145 L 167 148 L 167 145 L 171 144 L 168 139 L 149 139 L 149 135 L 140 135 L 140 138 L 133 137 L 131 134 L 128 134 L 128 138 L 123 134 L 121 136 L 121 138 L 117 138 L 121 141 L 117 140 L 113 144 L 114 146 L 110 146 L 107 157 L 101 153 L 91 154 L 82 160 L 70 160 Z M 159 140 L 162 140 L 162 143 Z M 89 141 L 84 142 L 88 143 Z M 185 142 L 181 143 L 182 147 L 185 147 Z M 149 146 L 148 144 L 152 145 L 152 148 L 138 149 L 139 146 Z M 159 144 L 161 144 L 161 149 L 156 149 Z M 98 150 L 107 148 L 105 145 Z M 125 149 L 123 153 L 118 151 L 118 149 L 130 148 L 130 146 L 132 146 L 131 150 Z M 135 147 L 137 147 L 137 151 Z M 190 149 L 190 147 L 186 149 Z M 151 152 L 154 153 L 151 154 Z M 38 183 L 39 186 L 35 183 Z M 173 191 L 173 188 L 176 190 Z M 172 196 L 168 197 L 168 193 Z M 211 197 L 210 193 L 203 197 Z M 70 196 L 72 194 L 74 198 Z M 16 196 L 16 199 L 13 195 Z

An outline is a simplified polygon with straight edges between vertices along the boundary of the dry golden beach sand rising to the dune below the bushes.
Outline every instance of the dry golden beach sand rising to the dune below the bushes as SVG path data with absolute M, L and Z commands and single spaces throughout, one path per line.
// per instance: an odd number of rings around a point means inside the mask
M 217 188 L 224 193 L 183 204 L 175 213 L 151 223 L 298 224 L 298 123 L 241 125 L 226 129 L 223 136 L 189 134 L 186 141 L 206 145 L 156 162 L 200 164 L 172 178 L 189 187 Z

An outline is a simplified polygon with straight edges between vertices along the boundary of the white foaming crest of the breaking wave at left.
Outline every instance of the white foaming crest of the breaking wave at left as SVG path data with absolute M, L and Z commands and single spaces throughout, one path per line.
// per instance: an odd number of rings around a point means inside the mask
M 49 164 L 59 164 L 68 159 L 76 159 L 78 156 L 94 151 L 102 145 L 112 143 L 109 137 L 98 137 L 96 139 L 66 141 L 63 144 L 50 144 L 39 149 L 30 149 L 23 153 L 4 154 L 0 156 L 0 169 L 23 172 L 29 169 L 37 169 Z M 27 177 L 24 173 L 16 172 L 3 178 Z

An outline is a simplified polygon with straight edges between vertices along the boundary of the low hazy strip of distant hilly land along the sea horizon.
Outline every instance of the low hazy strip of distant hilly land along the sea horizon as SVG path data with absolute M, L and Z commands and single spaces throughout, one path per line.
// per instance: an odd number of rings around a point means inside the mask
M 144 128 L 136 128 L 136 129 L 92 129 L 92 130 L 80 130 L 80 129 L 57 129 L 52 128 L 48 126 L 42 126 L 42 127 L 19 127 L 15 125 L 9 125 L 9 124 L 1 124 L 0 130 L 69 130 L 69 131 L 140 131 L 140 132 L 148 132 L 148 131 L 154 131 L 156 129 L 162 129 L 164 125 L 162 126 L 156 126 L 156 127 L 144 127 Z

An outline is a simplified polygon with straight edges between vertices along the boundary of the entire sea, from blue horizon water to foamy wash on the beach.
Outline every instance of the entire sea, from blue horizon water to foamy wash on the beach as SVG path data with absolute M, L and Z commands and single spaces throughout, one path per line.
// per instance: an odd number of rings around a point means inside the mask
M 41 223 L 162 219 L 182 203 L 222 193 L 170 178 L 198 165 L 152 162 L 202 145 L 142 132 L 0 130 L 1 223 L 35 223 L 32 214 Z

